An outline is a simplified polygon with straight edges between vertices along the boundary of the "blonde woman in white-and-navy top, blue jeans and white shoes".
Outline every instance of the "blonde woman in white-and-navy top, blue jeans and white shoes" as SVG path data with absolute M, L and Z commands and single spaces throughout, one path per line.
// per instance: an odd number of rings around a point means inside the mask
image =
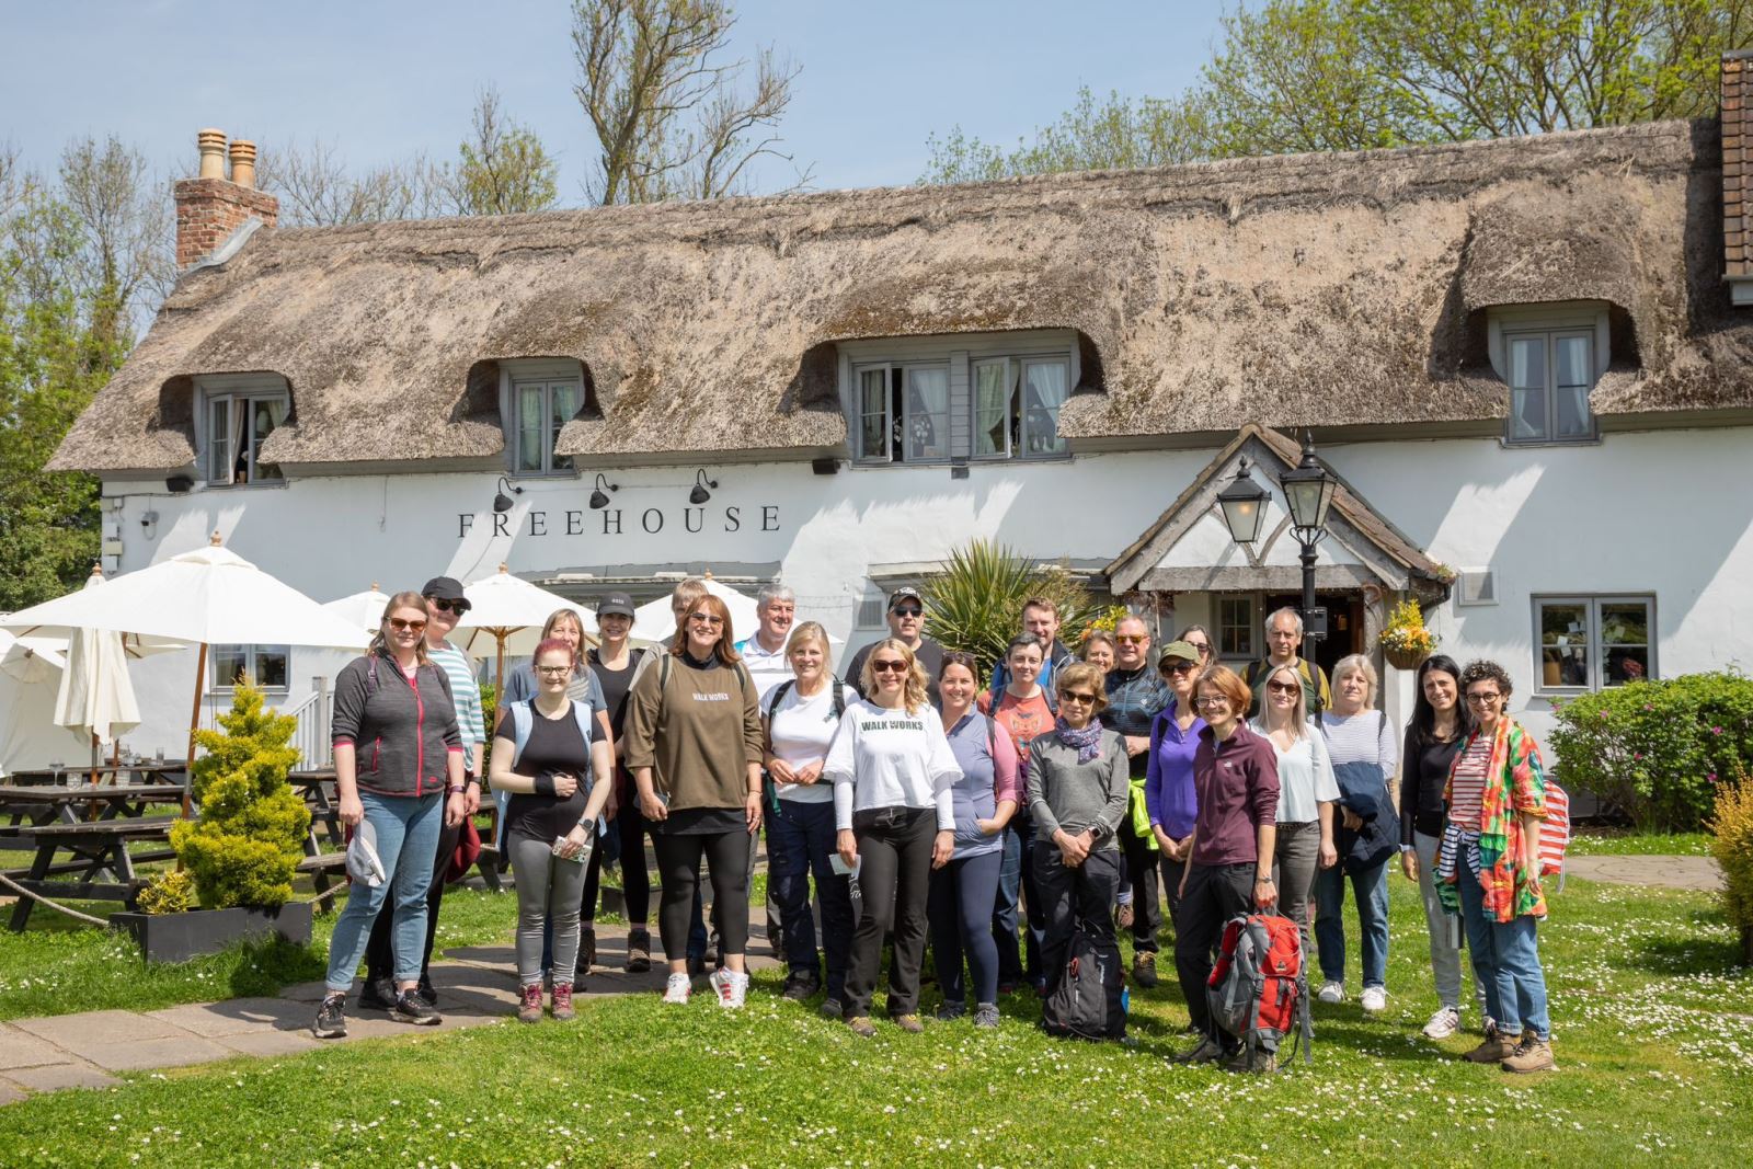
M 1388 1006 L 1388 861 L 1401 840 L 1401 820 L 1388 794 L 1401 745 L 1374 703 L 1376 668 L 1362 654 L 1341 657 L 1332 668 L 1332 705 L 1320 719 L 1339 782 L 1339 864 L 1315 876 L 1315 946 L 1322 973 L 1315 997 L 1345 1001 L 1345 882 L 1350 876 L 1362 934 L 1362 1006 L 1369 1013 Z

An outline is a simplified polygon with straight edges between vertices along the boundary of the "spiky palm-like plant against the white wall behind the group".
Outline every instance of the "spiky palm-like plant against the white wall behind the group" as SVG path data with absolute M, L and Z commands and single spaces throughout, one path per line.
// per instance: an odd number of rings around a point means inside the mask
M 1036 568 L 994 540 L 973 540 L 950 552 L 948 566 L 922 582 L 929 633 L 950 650 L 980 661 L 982 671 L 1004 655 L 1022 629 L 1022 606 L 1043 596 L 1059 605 L 1062 638 L 1075 641 L 1097 612 L 1089 592 L 1064 568 Z

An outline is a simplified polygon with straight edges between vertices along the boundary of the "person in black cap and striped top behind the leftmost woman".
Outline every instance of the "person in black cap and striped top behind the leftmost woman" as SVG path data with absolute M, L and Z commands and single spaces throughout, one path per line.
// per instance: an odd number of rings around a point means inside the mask
M 475 671 L 468 655 L 445 638 L 468 612 L 468 598 L 463 585 L 452 577 L 433 577 L 421 589 L 426 598 L 426 657 L 444 670 L 451 682 L 451 699 L 456 703 L 456 726 L 463 734 L 463 815 L 472 817 L 480 808 L 480 755 L 487 741 L 487 724 L 480 705 L 480 687 L 475 684 Z M 433 990 L 428 967 L 431 966 L 433 939 L 438 936 L 438 904 L 444 901 L 445 871 L 456 854 L 458 838 L 463 825 L 444 825 L 438 831 L 438 854 L 433 857 L 433 880 L 426 890 L 426 953 L 421 959 L 419 995 L 428 1006 L 436 1004 L 438 994 Z M 386 904 L 372 924 L 372 939 L 365 950 L 365 985 L 359 988 L 361 1008 L 389 1010 L 396 1004 L 394 955 L 391 950 L 391 913 Z

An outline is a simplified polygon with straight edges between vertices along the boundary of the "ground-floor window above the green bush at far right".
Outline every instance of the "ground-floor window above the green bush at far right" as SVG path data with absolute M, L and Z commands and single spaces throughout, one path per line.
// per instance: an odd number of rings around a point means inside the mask
M 1653 596 L 1537 596 L 1541 691 L 1599 691 L 1655 677 Z

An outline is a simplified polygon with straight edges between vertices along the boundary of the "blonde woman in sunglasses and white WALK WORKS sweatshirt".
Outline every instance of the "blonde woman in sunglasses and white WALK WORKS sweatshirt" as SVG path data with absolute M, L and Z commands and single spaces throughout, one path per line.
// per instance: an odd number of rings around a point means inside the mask
M 864 657 L 861 691 L 840 719 L 824 778 L 834 785 L 840 859 L 862 894 L 847 969 L 845 1017 L 873 1036 L 871 994 L 882 967 L 884 934 L 894 929 L 889 1017 L 901 1031 L 919 1022 L 919 967 L 926 955 L 926 894 L 931 869 L 955 852 L 955 799 L 962 778 L 943 722 L 926 698 L 926 671 L 905 641 L 885 638 Z

